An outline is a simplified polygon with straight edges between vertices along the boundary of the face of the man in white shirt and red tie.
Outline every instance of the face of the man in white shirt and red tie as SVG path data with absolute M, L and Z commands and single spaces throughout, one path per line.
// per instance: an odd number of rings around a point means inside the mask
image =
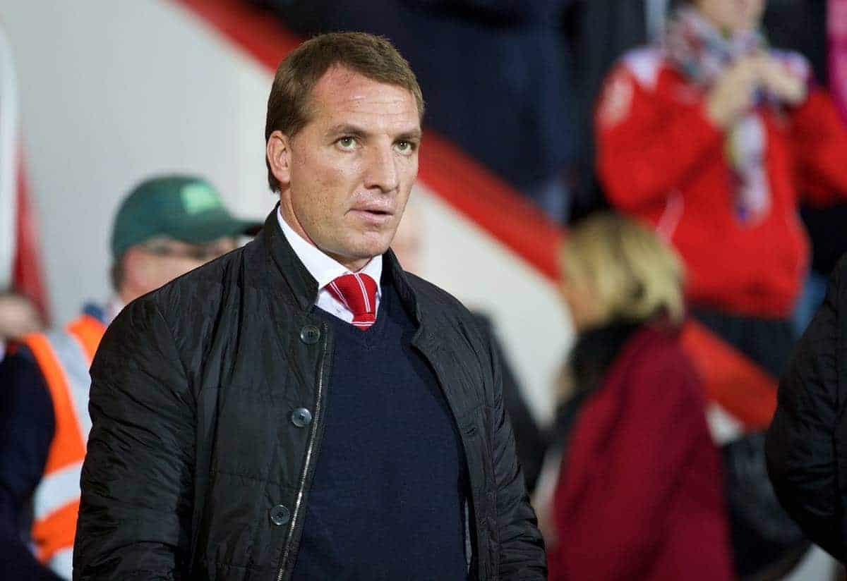
M 293 138 L 268 140 L 280 209 L 303 238 L 356 271 L 388 249 L 400 223 L 418 175 L 418 106 L 408 90 L 335 67 L 315 85 L 311 107 Z

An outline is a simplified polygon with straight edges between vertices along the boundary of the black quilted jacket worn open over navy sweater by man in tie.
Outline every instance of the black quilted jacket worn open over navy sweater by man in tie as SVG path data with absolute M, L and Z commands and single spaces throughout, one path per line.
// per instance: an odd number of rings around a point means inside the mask
M 310 314 L 317 283 L 274 212 L 244 248 L 131 303 L 103 338 L 75 579 L 291 575 L 332 397 L 333 336 Z M 489 338 L 391 252 L 385 268 L 462 435 L 469 577 L 546 578 Z

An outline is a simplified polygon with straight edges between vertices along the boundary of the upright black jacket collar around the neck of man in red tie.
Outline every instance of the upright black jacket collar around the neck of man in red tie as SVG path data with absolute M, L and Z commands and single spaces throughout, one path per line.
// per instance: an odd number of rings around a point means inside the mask
M 279 269 L 280 275 L 291 291 L 291 296 L 296 305 L 300 310 L 308 311 L 318 299 L 318 281 L 309 273 L 282 233 L 276 217 L 278 206 L 279 204 L 274 206 L 274 210 L 268 214 L 261 236 L 265 239 L 273 263 Z M 394 251 L 391 249 L 383 255 L 382 276 L 390 277 L 390 281 L 400 295 L 403 308 L 412 315 L 415 323 L 419 326 L 421 313 L 417 296 L 409 284 L 406 272 L 403 271 L 400 262 L 397 261 Z

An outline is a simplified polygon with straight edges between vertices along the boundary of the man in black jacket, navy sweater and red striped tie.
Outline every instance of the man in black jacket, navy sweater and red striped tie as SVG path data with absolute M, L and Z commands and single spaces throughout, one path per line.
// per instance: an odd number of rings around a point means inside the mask
M 377 37 L 280 64 L 278 209 L 91 368 L 75 578 L 545 578 L 490 338 L 388 249 L 422 114 Z

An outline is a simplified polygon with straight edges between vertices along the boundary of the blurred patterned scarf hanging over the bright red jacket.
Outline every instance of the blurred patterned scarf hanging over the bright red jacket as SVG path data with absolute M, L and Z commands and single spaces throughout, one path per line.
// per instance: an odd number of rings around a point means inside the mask
M 680 8 L 662 40 L 667 58 L 700 90 L 707 91 L 738 58 L 767 48 L 764 36 L 750 31 L 724 36 L 693 8 Z M 767 217 L 771 192 L 765 167 L 766 132 L 759 109 L 778 105 L 760 90 L 754 106 L 727 129 L 724 151 L 733 173 L 733 207 L 739 224 L 752 227 Z

